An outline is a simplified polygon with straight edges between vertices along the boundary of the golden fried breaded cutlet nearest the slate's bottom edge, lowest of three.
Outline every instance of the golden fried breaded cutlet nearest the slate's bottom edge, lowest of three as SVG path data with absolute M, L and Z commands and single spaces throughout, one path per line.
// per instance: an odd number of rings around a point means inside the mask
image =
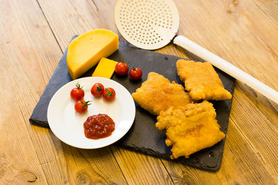
M 189 155 L 211 147 L 224 138 L 215 119 L 213 104 L 190 103 L 182 107 L 170 107 L 157 117 L 156 127 L 166 129 L 167 146 L 172 146 L 171 159 Z

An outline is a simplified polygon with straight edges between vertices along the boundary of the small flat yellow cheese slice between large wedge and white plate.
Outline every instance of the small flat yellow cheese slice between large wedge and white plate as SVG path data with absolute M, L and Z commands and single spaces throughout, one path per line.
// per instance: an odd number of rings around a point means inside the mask
M 117 62 L 115 62 L 114 60 L 101 58 L 99 64 L 97 64 L 97 68 L 95 69 L 94 73 L 92 73 L 92 76 L 111 78 L 115 71 L 116 64 Z

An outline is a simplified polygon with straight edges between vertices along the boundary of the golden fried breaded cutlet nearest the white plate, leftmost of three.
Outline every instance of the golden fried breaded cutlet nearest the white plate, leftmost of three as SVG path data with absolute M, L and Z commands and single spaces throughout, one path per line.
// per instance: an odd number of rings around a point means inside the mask
M 177 107 L 191 103 L 191 98 L 182 85 L 170 82 L 164 76 L 150 72 L 142 86 L 132 94 L 133 99 L 156 116 L 170 106 Z

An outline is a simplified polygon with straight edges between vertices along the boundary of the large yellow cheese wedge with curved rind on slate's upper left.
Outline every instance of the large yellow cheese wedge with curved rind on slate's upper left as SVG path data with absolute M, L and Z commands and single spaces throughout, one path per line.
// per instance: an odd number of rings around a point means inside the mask
M 72 40 L 67 49 L 67 69 L 73 80 L 119 48 L 117 34 L 111 30 L 91 30 Z

